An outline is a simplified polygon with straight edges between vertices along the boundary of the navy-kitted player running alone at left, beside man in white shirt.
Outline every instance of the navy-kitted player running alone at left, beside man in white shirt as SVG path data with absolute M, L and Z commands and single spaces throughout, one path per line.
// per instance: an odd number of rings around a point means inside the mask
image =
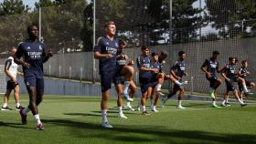
M 52 57 L 49 49 L 45 52 L 45 45 L 38 39 L 37 26 L 27 27 L 28 39 L 21 43 L 16 51 L 15 62 L 22 65 L 24 81 L 29 95 L 29 105 L 22 108 L 19 113 L 23 124 L 27 124 L 27 113 L 31 110 L 37 121 L 37 130 L 43 130 L 44 126 L 39 118 L 38 106 L 43 100 L 44 95 L 44 69 L 43 63 Z M 23 57 L 23 60 L 20 58 Z

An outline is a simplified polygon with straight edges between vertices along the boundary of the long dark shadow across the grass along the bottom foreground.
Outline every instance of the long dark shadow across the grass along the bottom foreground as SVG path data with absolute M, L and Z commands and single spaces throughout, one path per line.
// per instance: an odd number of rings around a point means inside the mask
M 159 129 L 156 127 L 116 125 L 114 129 L 102 129 L 101 125 L 66 119 L 43 119 L 47 124 L 69 127 L 72 134 L 79 138 L 118 140 L 120 142 L 162 142 L 162 143 L 223 143 L 255 144 L 256 135 L 221 134 L 205 131 Z M 89 132 L 87 132 L 89 131 Z M 147 136 L 145 136 L 147 135 Z M 154 139 L 158 137 L 157 139 Z M 177 140 L 178 139 L 178 140 Z

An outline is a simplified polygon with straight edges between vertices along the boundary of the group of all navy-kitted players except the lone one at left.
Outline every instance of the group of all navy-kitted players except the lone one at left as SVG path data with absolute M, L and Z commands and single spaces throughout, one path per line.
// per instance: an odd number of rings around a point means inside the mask
M 101 76 L 101 116 L 102 127 L 112 128 L 112 125 L 107 119 L 107 101 L 110 97 L 110 89 L 112 82 L 116 87 L 118 94 L 118 116 L 120 118 L 127 118 L 123 114 L 123 98 L 127 100 L 125 108 L 134 110 L 131 106 L 136 86 L 133 82 L 134 68 L 132 65 L 134 61 L 124 54 L 123 49 L 125 42 L 114 38 L 116 33 L 116 26 L 114 22 L 110 21 L 105 24 L 106 36 L 98 38 L 97 44 L 94 47 L 94 57 L 99 59 L 99 68 Z M 162 53 L 150 54 L 149 46 L 141 47 L 142 54 L 136 58 L 136 65 L 139 70 L 139 82 L 142 92 L 142 97 L 139 100 L 137 109 L 142 108 L 143 115 L 150 115 L 146 110 L 146 101 L 150 99 L 150 110 L 158 112 L 156 104 L 159 98 L 162 105 L 176 95 L 178 92 L 177 108 L 184 108 L 182 106 L 182 98 L 184 96 L 184 85 L 187 85 L 187 80 L 182 80 L 182 77 L 187 77 L 186 72 L 186 53 L 184 51 L 178 52 L 178 60 L 170 68 L 167 74 L 163 71 L 165 65 L 165 57 Z M 239 72 L 236 70 L 238 60 L 236 57 L 229 57 L 229 62 L 223 68 L 219 68 L 219 52 L 214 51 L 212 57 L 209 57 L 203 63 L 201 70 L 206 73 L 206 78 L 209 81 L 209 96 L 212 98 L 212 107 L 219 108 L 217 105 L 217 88 L 221 84 L 221 78 L 218 73 L 221 73 L 225 78 L 227 85 L 227 92 L 224 95 L 224 101 L 221 103 L 222 107 L 229 107 L 229 92 L 233 92 L 235 98 L 240 102 L 240 106 L 244 107 L 247 104 L 243 102 L 243 95 L 248 96 L 255 84 L 248 80 L 247 76 L 250 72 L 247 70 L 248 61 L 242 60 L 242 67 Z M 174 83 L 172 92 L 165 96 L 161 93 L 161 87 L 165 80 L 170 80 Z M 237 82 L 239 87 L 235 87 L 234 83 Z M 130 91 L 129 91 L 130 89 Z M 240 91 L 238 91 L 238 89 Z M 155 96 L 155 98 L 154 98 Z

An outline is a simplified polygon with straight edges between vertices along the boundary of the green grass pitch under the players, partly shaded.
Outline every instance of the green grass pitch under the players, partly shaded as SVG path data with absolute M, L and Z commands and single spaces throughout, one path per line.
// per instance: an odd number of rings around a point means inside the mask
M 2 97 L 1 97 L 2 99 Z M 27 96 L 21 97 L 27 105 Z M 14 108 L 14 99 L 9 107 Z M 0 143 L 256 143 L 256 105 L 240 108 L 210 108 L 208 102 L 184 101 L 186 109 L 176 109 L 176 100 L 150 116 L 124 110 L 128 119 L 117 118 L 116 100 L 111 99 L 108 118 L 114 129 L 101 128 L 101 98 L 46 96 L 39 107 L 45 130 L 37 131 L 35 120 L 21 125 L 16 110 L 0 111 Z M 135 105 L 136 102 L 133 102 Z

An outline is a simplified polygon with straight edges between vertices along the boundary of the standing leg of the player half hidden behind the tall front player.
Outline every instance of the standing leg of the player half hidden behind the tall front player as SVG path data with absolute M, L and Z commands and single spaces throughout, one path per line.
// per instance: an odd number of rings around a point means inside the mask
M 116 93 L 117 93 L 117 109 L 118 109 L 118 117 L 119 118 L 127 118 L 123 115 L 123 98 L 122 98 L 122 92 L 123 92 L 123 85 L 121 83 L 115 84 Z

